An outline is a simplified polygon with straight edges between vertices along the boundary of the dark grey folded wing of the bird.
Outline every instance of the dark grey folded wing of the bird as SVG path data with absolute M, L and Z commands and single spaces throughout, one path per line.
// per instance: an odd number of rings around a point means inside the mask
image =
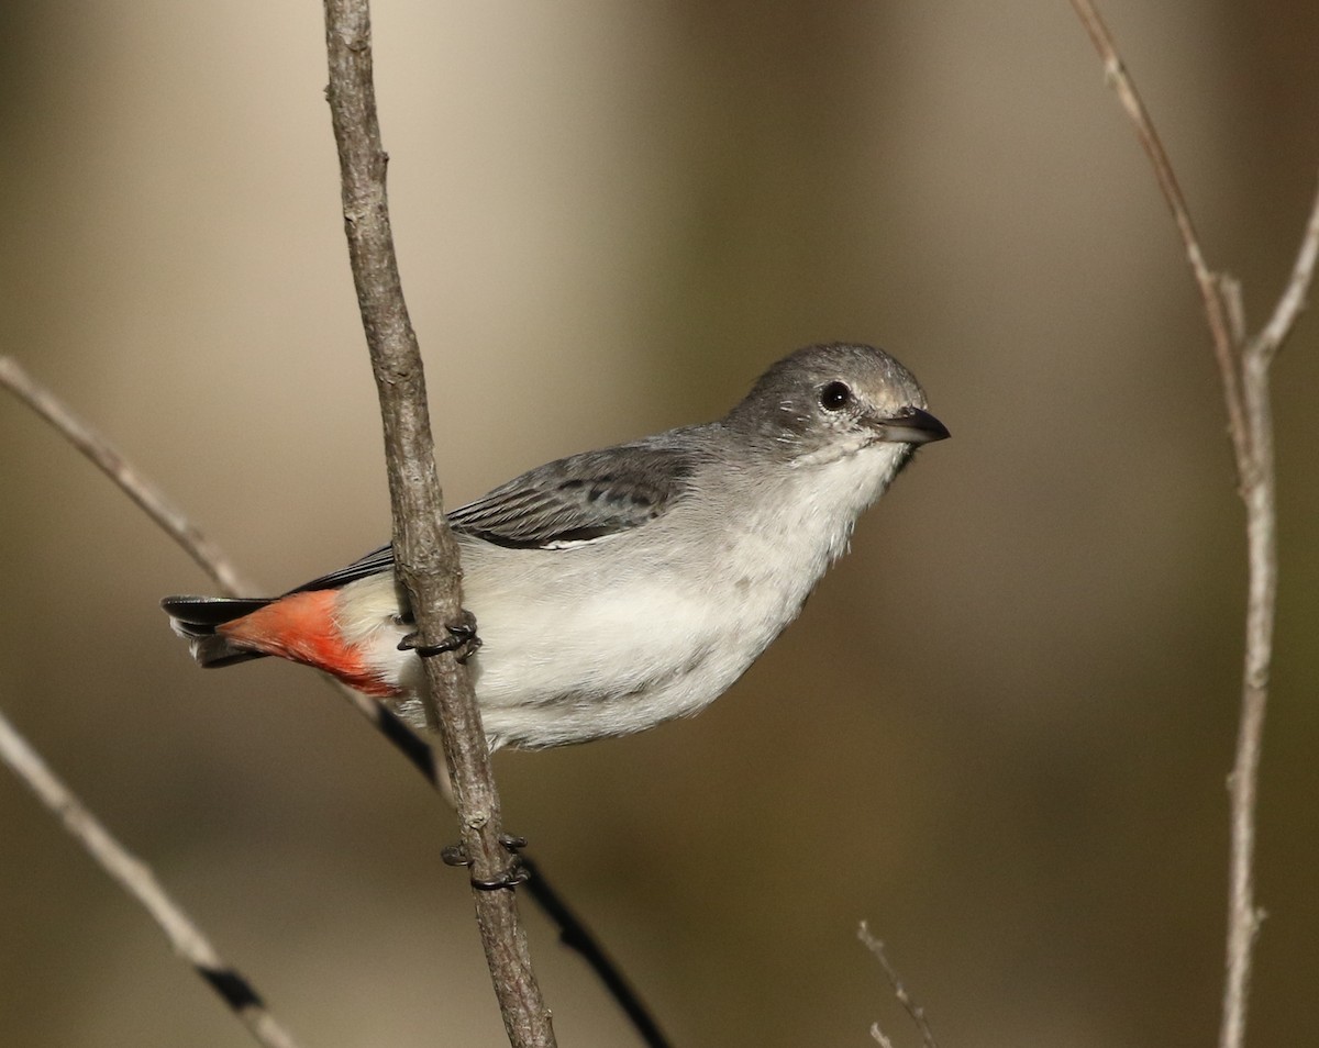
M 559 459 L 448 514 L 497 546 L 559 548 L 641 527 L 687 490 L 695 460 L 671 434 Z

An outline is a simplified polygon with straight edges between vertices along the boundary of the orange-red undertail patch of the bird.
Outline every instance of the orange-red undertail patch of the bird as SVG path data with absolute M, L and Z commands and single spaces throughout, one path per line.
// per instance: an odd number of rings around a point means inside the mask
M 398 695 L 367 664 L 360 647 L 347 645 L 335 618 L 335 589 L 290 593 L 216 629 L 235 645 L 324 670 L 357 691 Z

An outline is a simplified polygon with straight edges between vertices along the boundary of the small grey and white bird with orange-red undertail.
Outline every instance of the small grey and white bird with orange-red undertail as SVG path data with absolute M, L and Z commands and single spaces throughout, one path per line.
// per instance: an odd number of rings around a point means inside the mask
M 718 699 L 852 526 L 948 431 L 868 345 L 799 349 L 718 422 L 549 463 L 448 514 L 492 750 L 624 736 Z M 202 666 L 278 655 L 423 724 L 390 547 L 269 600 L 168 597 Z

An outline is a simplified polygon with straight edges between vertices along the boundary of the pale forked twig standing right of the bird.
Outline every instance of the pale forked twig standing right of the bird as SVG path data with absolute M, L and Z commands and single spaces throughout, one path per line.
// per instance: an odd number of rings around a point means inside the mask
M 1072 0 L 1072 7 L 1104 61 L 1105 74 L 1122 108 L 1136 125 L 1136 133 L 1154 165 L 1159 189 L 1173 210 L 1182 235 L 1187 261 L 1204 301 L 1210 335 L 1213 339 L 1213 353 L 1228 409 L 1228 430 L 1236 456 L 1237 484 L 1245 504 L 1248 562 L 1245 666 L 1236 758 L 1228 778 L 1232 841 L 1228 859 L 1227 973 L 1223 987 L 1223 1023 L 1219 1031 L 1220 1048 L 1241 1048 L 1245 1044 L 1254 941 L 1264 916 L 1254 903 L 1256 808 L 1278 591 L 1274 505 L 1277 479 L 1273 460 L 1269 365 L 1299 318 L 1314 281 L 1315 258 L 1319 256 L 1319 196 L 1315 198 L 1310 212 L 1291 277 L 1268 324 L 1254 339 L 1249 339 L 1242 319 L 1240 287 L 1235 279 L 1213 273 L 1206 264 L 1173 166 L 1107 26 L 1089 0 Z

